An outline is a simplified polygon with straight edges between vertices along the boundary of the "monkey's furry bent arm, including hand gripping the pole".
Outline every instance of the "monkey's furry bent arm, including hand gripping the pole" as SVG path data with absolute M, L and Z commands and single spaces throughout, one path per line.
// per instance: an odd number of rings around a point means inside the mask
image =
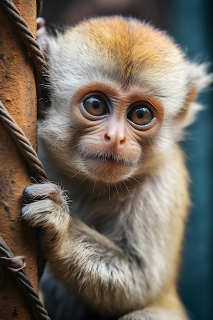
M 112 314 L 144 306 L 149 287 L 142 257 L 125 252 L 76 218 L 71 222 L 65 197 L 54 184 L 28 186 L 23 198 L 29 203 L 21 217 L 42 228 L 41 247 L 51 269 L 87 303 Z

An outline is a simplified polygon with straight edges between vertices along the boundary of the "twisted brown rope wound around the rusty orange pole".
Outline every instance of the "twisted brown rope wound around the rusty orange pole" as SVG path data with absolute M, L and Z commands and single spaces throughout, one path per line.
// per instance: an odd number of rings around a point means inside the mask
M 25 43 L 27 50 L 31 54 L 36 74 L 37 82 L 42 83 L 47 66 L 43 54 L 39 49 L 38 43 L 35 41 L 32 32 L 29 30 L 25 20 L 14 6 L 12 1 L 0 0 L 0 4 L 7 12 L 12 24 L 19 33 L 22 41 Z M 25 157 L 29 164 L 33 176 L 38 181 L 45 181 L 47 179 L 43 166 L 38 159 L 36 152 L 33 150 L 31 143 L 26 138 L 25 133 L 18 127 L 15 120 L 10 116 L 9 112 L 0 101 L 0 119 L 12 136 L 14 142 L 18 146 L 23 157 Z M 33 289 L 32 283 L 26 276 L 23 268 L 26 266 L 25 257 L 14 257 L 11 250 L 0 236 L 0 263 L 12 272 L 13 277 L 25 294 L 30 303 L 33 314 L 38 320 L 50 320 L 48 312 L 44 309 L 42 302 L 39 300 L 38 293 Z

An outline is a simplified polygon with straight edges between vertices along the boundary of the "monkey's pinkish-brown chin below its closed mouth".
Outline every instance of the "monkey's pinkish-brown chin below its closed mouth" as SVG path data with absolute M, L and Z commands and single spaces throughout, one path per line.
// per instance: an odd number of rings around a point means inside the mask
M 133 165 L 116 163 L 113 161 L 88 160 L 85 164 L 86 171 L 94 180 L 107 182 L 107 184 L 123 181 L 134 172 Z

